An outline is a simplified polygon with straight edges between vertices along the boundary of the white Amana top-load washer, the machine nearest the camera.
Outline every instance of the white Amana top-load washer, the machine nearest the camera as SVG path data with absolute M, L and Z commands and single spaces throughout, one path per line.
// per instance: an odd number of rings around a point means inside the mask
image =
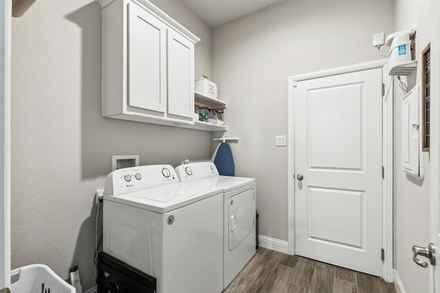
M 118 169 L 104 187 L 103 250 L 157 279 L 157 293 L 223 290 L 223 190 L 170 165 Z

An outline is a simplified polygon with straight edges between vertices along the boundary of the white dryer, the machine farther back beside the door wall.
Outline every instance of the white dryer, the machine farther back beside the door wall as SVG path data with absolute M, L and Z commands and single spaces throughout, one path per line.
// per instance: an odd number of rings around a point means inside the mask
M 181 183 L 223 189 L 223 289 L 256 252 L 254 178 L 221 176 L 212 162 L 176 167 Z

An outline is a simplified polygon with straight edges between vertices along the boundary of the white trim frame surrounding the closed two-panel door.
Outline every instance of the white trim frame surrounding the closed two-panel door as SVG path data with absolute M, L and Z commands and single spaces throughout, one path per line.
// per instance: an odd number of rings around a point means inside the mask
M 388 76 L 388 59 L 365 62 L 347 67 L 337 67 L 289 76 L 288 89 L 288 140 L 287 140 L 287 251 L 295 253 L 295 91 L 296 82 L 323 78 L 331 75 L 352 73 L 368 69 L 382 69 L 384 96 L 382 97 L 382 165 L 384 179 L 382 180 L 382 247 L 385 250 L 383 261 L 383 278 L 387 282 L 394 281 L 393 274 L 393 77 Z M 377 170 L 380 172 L 380 170 Z M 379 257 L 379 255 L 378 255 Z

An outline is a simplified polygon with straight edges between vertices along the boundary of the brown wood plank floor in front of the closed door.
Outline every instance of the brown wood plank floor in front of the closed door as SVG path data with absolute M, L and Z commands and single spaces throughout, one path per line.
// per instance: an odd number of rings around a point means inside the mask
M 224 293 L 395 293 L 393 283 L 297 255 L 259 248 Z

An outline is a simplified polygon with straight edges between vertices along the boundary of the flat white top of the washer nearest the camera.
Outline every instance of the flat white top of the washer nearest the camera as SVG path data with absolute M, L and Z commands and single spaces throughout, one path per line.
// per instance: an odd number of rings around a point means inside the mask
M 223 190 L 217 187 L 198 187 L 176 183 L 119 196 L 104 194 L 104 200 L 119 202 L 156 213 L 167 213 L 222 192 Z

